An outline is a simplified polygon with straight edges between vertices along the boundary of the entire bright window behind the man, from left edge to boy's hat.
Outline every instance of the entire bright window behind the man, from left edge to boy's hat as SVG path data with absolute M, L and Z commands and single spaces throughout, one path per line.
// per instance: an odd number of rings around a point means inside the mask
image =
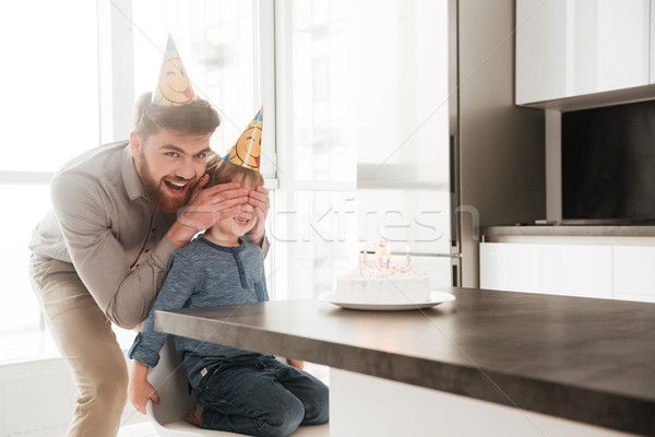
M 271 80 L 262 74 L 273 71 L 259 55 L 260 46 L 273 39 L 266 34 L 273 29 L 267 3 L 35 0 L 12 2 L 11 13 L 0 14 L 2 40 L 15 42 L 5 45 L 12 68 L 0 71 L 0 81 L 11 84 L 3 95 L 12 107 L 10 122 L 1 128 L 12 146 L 0 163 L 0 193 L 9 205 L 0 218 L 8 239 L 0 255 L 5 303 L 0 362 L 57 354 L 27 276 L 31 232 L 50 208 L 53 172 L 87 149 L 128 138 L 134 97 L 154 88 L 168 33 L 196 93 L 222 116 L 212 138 L 216 152 L 227 151 L 265 105 L 264 146 L 270 149 L 262 168 L 275 185 L 275 129 L 269 123 L 275 120 L 273 91 L 263 92 Z M 116 331 L 123 346 L 131 343 L 132 331 Z

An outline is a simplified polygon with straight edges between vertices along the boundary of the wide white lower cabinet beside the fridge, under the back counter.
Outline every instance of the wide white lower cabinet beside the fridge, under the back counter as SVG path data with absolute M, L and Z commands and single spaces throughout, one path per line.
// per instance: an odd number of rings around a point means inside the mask
M 612 247 L 483 243 L 480 288 L 612 298 Z

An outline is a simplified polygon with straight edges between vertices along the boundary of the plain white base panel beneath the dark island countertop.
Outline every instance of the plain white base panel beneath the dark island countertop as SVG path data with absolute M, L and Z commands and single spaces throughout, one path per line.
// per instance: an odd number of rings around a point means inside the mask
M 330 436 L 628 437 L 634 435 L 331 368 Z

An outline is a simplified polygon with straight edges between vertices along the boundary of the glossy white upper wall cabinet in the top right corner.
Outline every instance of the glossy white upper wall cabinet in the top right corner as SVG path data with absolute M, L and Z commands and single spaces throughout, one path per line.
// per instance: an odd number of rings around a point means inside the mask
M 651 0 L 516 0 L 516 104 L 646 85 Z

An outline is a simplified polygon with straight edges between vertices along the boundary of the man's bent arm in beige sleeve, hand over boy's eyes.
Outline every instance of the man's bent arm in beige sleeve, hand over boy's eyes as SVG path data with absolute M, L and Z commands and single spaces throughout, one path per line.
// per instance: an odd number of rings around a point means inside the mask
M 194 193 L 193 200 L 196 203 L 190 204 L 193 209 L 205 202 L 203 210 L 207 211 L 201 214 L 205 220 L 218 220 L 219 211 L 230 211 L 248 199 L 247 190 L 221 190 L 216 187 L 202 190 L 209 191 L 202 196 Z M 217 199 L 213 198 L 215 191 L 221 193 Z M 152 309 L 166 276 L 168 261 L 177 246 L 168 236 L 164 237 L 151 250 L 146 260 L 139 265 L 131 265 L 133 260 L 128 259 L 121 243 L 110 228 L 111 220 L 116 217 L 108 216 L 110 205 L 104 202 L 110 202 L 111 196 L 96 184 L 73 178 L 56 178 L 51 192 L 52 206 L 78 274 L 105 315 L 116 324 L 132 329 Z M 211 198 L 211 202 L 206 198 Z M 187 216 L 189 217 L 196 218 L 198 215 Z M 183 218 L 178 222 L 180 220 Z M 193 228 L 194 235 L 207 223 L 211 222 L 192 220 L 182 225 L 189 227 L 190 224 L 196 224 L 199 227 Z M 191 232 L 188 231 L 188 234 L 190 239 Z M 143 239 L 145 237 L 146 235 Z M 182 246 L 188 239 L 184 238 Z

